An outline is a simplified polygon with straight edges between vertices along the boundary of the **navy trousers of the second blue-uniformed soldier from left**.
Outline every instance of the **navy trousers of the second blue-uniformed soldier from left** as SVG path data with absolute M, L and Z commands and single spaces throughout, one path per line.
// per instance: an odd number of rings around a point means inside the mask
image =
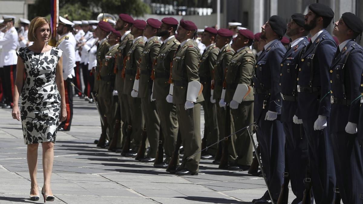
M 304 179 L 308 164 L 307 139 L 302 125 L 284 122 L 285 170 L 289 173 L 291 189 L 296 196 L 292 204 L 300 203 L 305 190 Z

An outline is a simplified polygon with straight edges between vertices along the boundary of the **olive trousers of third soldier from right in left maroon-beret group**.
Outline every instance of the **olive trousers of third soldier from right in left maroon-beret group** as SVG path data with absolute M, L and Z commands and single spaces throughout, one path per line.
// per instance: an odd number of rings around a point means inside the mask
M 155 158 L 159 147 L 160 119 L 156 112 L 155 101 L 150 101 L 150 97 L 141 98 L 141 106 L 145 117 L 147 140 L 150 145 L 146 157 Z

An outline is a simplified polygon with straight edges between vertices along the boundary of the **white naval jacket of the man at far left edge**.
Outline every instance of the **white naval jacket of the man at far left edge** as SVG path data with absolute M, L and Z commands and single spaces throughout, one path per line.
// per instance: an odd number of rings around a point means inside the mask
M 18 56 L 16 55 L 18 33 L 15 27 L 11 27 L 5 32 L 4 37 L 0 39 L 0 45 L 3 46 L 0 55 L 0 67 L 16 65 L 18 61 Z

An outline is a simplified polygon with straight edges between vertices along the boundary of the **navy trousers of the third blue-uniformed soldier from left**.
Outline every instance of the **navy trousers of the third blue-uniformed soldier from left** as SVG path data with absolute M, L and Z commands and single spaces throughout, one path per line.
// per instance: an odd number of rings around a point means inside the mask
M 328 134 L 329 127 L 314 130 L 317 118 L 318 116 L 302 120 L 308 143 L 311 183 L 315 203 L 331 204 L 335 196 L 333 145 Z

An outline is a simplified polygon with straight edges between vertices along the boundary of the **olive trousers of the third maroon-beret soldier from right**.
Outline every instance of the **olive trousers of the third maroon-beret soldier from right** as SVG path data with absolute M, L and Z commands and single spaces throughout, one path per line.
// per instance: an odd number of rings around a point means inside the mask
M 209 98 L 211 98 L 210 94 L 209 97 L 205 96 L 205 101 L 201 102 L 204 110 L 204 122 L 205 122 L 205 136 L 206 138 L 206 145 L 207 147 L 211 146 L 212 144 L 218 141 L 218 122 L 217 122 L 217 110 L 216 105 L 211 103 Z M 207 149 L 207 154 L 216 155 L 217 154 L 217 147 L 218 144 L 215 144 Z

